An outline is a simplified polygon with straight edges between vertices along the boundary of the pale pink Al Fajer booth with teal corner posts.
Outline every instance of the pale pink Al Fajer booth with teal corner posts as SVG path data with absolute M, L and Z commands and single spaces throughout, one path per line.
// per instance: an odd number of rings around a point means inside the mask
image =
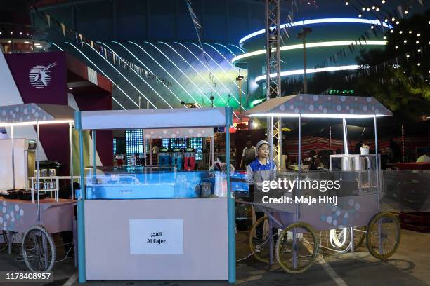
M 79 282 L 86 280 L 228 280 L 235 282 L 235 202 L 207 193 L 204 172 L 176 165 L 84 168 L 82 133 L 133 129 L 193 132 L 232 125 L 232 109 L 77 111 L 81 197 Z M 162 129 L 167 128 L 167 129 Z M 175 129 L 177 128 L 177 129 Z M 202 129 L 203 128 L 203 129 Z M 178 131 L 178 133 L 176 133 Z M 226 133 L 229 148 L 229 132 Z M 230 153 L 226 152 L 227 161 Z M 216 186 L 215 186 L 216 187 Z M 206 188 L 206 189 L 205 189 Z

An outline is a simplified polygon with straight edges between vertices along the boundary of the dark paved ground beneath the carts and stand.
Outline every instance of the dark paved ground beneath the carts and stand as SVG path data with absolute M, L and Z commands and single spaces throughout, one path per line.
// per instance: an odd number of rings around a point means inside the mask
M 57 240 L 58 241 L 58 240 Z M 248 254 L 246 233 L 237 235 L 237 259 Z M 60 243 L 60 240 L 58 241 Z M 374 259 L 365 247 L 353 254 L 325 255 L 306 273 L 287 274 L 278 265 L 269 267 L 253 257 L 237 264 L 237 285 L 430 285 L 430 233 L 402 231 L 402 241 L 396 254 L 386 261 Z M 58 250 L 63 257 L 63 250 Z M 18 254 L 0 253 L 0 271 L 26 271 Z M 72 259 L 56 264 L 55 281 L 45 285 L 78 285 Z M 89 285 L 228 285 L 227 282 L 207 281 L 91 281 Z M 1 283 L 0 283 L 1 285 Z M 6 285 L 6 284 L 3 284 Z M 15 282 L 10 285 L 23 285 Z M 27 283 L 27 285 L 38 285 Z M 40 284 L 39 284 L 40 285 Z

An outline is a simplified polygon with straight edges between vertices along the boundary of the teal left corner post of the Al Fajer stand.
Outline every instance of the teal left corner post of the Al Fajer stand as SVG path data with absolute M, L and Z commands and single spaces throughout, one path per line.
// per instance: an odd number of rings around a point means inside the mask
M 79 130 L 79 169 L 81 177 L 81 198 L 77 202 L 77 221 L 78 221 L 78 281 L 86 282 L 85 266 L 85 169 L 84 169 L 84 135 L 82 134 L 81 112 L 74 112 L 74 126 Z

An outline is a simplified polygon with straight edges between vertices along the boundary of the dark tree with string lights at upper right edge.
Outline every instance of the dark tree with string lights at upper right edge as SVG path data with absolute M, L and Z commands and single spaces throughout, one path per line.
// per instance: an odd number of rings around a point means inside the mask
M 402 20 L 386 32 L 385 50 L 362 50 L 355 86 L 408 118 L 430 115 L 430 11 Z

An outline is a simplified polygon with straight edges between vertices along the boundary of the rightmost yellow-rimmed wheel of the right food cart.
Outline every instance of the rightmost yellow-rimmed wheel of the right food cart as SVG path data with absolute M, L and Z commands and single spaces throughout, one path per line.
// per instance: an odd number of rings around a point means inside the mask
M 379 212 L 367 225 L 367 249 L 377 259 L 387 259 L 400 244 L 400 224 L 389 212 Z

